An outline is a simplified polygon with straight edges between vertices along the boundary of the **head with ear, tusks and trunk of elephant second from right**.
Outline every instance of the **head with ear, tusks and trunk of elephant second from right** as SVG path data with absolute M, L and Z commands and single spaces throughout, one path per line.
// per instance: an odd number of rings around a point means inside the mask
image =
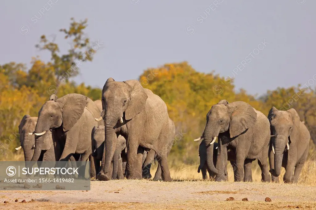
M 257 121 L 255 109 L 246 102 L 228 103 L 222 100 L 213 105 L 206 115 L 206 125 L 203 135 L 196 139 L 204 139 L 206 146 L 206 164 L 217 173 L 213 163 L 213 143 L 219 133 L 229 131 L 230 138 L 234 138 L 251 128 Z

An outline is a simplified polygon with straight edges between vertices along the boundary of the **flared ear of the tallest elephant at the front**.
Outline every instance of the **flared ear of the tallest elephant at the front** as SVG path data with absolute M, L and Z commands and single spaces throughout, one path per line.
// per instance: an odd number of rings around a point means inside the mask
M 137 80 L 127 80 L 124 83 L 131 86 L 129 102 L 125 109 L 125 120 L 130 120 L 143 111 L 148 96 L 143 86 Z

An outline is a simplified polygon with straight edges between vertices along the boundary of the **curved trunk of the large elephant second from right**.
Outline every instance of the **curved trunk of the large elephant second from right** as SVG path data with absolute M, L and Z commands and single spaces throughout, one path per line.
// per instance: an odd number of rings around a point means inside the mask
M 208 129 L 210 125 L 206 125 L 206 128 L 203 133 L 203 138 L 205 141 L 205 147 L 206 147 L 206 164 L 207 167 L 213 172 L 213 173 L 218 173 L 218 170 L 214 166 L 213 162 L 213 149 L 214 149 L 214 138 L 218 137 L 218 133 L 216 134 L 213 132 L 213 134 L 210 134 L 210 130 Z M 212 143 L 212 144 L 211 144 Z

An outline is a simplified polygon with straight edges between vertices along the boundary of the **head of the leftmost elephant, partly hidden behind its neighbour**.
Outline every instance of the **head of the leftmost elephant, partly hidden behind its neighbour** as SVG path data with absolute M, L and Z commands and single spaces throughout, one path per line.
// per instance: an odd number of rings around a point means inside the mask
M 27 114 L 24 115 L 19 125 L 21 146 L 15 149 L 19 150 L 23 148 L 25 161 L 30 161 L 34 153 L 35 139 L 33 131 L 35 130 L 36 122 L 37 117 L 31 117 Z M 48 132 L 49 134 L 44 138 L 44 143 L 42 147 L 43 150 L 48 150 L 53 145 L 51 132 Z

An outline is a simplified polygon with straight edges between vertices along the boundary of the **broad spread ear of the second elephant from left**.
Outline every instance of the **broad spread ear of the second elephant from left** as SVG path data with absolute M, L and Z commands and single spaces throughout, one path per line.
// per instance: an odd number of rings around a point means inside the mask
M 69 131 L 83 114 L 88 103 L 88 97 L 71 93 L 57 99 L 57 101 L 64 104 L 62 109 L 63 129 Z

